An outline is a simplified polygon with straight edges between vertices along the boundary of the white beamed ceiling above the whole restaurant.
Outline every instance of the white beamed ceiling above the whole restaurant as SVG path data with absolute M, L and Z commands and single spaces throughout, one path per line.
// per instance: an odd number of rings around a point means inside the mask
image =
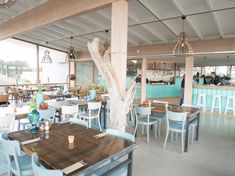
M 46 0 L 17 0 L 0 9 L 0 23 L 14 18 Z M 235 0 L 129 0 L 128 45 L 150 45 L 177 40 L 182 31 L 181 16 L 186 15 L 185 31 L 190 40 L 235 37 Z M 225 10 L 222 10 L 225 9 Z M 216 12 L 210 12 L 217 10 Z M 100 37 L 110 40 L 111 7 L 54 22 L 14 36 L 67 51 L 73 46 L 87 50 L 87 42 Z

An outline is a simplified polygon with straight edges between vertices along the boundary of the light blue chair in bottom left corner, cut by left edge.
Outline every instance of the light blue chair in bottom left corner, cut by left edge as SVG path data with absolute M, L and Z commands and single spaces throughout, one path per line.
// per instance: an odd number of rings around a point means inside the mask
M 1 142 L 3 151 L 7 156 L 7 165 L 10 172 L 16 176 L 33 175 L 31 157 L 21 152 L 19 141 L 2 139 Z

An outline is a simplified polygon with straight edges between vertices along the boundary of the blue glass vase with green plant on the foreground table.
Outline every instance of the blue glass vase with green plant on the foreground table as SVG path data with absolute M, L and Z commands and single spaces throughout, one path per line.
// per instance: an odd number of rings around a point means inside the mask
M 38 106 L 37 101 L 34 98 L 32 98 L 29 102 L 30 113 L 28 114 L 28 119 L 32 126 L 31 127 L 32 133 L 35 133 L 38 130 L 37 125 L 40 118 L 40 114 L 37 111 L 37 106 Z

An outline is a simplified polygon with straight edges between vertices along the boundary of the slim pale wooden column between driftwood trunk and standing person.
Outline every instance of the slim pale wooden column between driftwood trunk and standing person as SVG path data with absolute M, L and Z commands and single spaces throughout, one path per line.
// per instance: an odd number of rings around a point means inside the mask
M 141 64 L 141 97 L 140 97 L 141 104 L 146 99 L 146 72 L 147 72 L 147 60 L 146 58 L 143 58 Z

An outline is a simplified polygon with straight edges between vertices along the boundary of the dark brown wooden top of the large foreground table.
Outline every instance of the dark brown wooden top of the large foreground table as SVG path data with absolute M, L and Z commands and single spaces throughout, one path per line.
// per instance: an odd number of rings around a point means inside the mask
M 81 160 L 87 163 L 86 166 L 71 174 L 92 167 L 96 163 L 102 163 L 105 159 L 123 150 L 136 148 L 136 144 L 114 136 L 106 135 L 95 138 L 94 136 L 99 133 L 100 131 L 91 128 L 63 123 L 53 124 L 47 139 L 42 138 L 42 132 L 31 133 L 29 130 L 9 133 L 9 138 L 23 142 L 41 137 L 38 142 L 22 145 L 22 149 L 29 155 L 37 152 L 40 161 L 45 163 L 48 168 L 62 170 Z M 69 144 L 69 135 L 75 136 L 74 144 Z

